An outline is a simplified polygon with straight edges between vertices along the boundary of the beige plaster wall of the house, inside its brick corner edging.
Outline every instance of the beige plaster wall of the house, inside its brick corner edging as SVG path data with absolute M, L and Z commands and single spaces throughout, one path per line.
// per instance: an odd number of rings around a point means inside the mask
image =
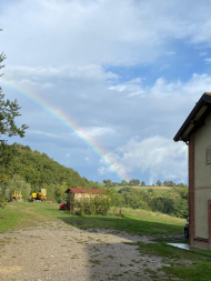
M 195 237 L 208 238 L 208 200 L 211 199 L 211 164 L 207 164 L 207 148 L 211 145 L 211 114 L 194 136 Z

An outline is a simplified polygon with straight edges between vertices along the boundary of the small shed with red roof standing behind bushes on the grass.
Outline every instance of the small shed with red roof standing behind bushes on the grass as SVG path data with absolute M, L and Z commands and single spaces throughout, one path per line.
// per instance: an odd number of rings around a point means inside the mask
M 67 208 L 68 210 L 72 209 L 73 203 L 76 200 L 82 201 L 82 200 L 91 200 L 96 198 L 97 195 L 103 194 L 104 190 L 101 189 L 73 189 L 68 188 L 66 190 L 67 197 Z

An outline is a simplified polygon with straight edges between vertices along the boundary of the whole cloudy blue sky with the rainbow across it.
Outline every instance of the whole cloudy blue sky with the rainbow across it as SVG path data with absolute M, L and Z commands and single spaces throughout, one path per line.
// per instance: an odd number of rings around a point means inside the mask
M 0 86 L 18 100 L 9 143 L 89 180 L 188 182 L 173 137 L 211 91 L 211 1 L 2 0 Z

